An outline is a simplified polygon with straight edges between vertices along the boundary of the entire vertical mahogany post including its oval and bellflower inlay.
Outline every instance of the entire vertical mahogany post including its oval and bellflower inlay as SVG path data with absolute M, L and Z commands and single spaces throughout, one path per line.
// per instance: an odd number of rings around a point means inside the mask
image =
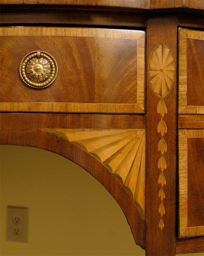
M 150 73 L 147 76 L 146 92 L 145 250 L 146 255 L 175 255 L 177 18 L 170 15 L 148 17 L 146 38 L 147 70 L 150 69 Z M 165 61 L 169 64 L 168 68 Z M 169 69 L 175 73 L 169 72 Z M 158 80 L 152 81 L 153 72 Z M 169 87 L 166 87 L 165 79 L 162 78 L 165 73 L 172 79 L 171 83 L 168 82 Z M 153 88 L 156 81 L 159 87 Z

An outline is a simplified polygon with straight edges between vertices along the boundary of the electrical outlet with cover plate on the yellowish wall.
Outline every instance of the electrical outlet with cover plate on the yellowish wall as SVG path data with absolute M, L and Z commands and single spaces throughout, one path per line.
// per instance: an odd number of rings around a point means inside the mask
M 28 241 L 28 208 L 7 207 L 7 241 Z

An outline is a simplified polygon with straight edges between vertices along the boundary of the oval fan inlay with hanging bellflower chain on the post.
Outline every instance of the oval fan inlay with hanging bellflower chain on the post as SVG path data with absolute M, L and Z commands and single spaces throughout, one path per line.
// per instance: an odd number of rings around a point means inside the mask
M 161 133 L 161 138 L 158 142 L 158 151 L 161 152 L 161 156 L 158 160 L 158 169 L 161 170 L 158 177 L 158 184 L 160 185 L 158 197 L 161 199 L 158 212 L 161 216 L 159 227 L 163 229 L 163 215 L 165 214 L 164 199 L 166 197 L 164 192 L 164 185 L 166 185 L 164 171 L 167 170 L 165 159 L 167 144 L 164 139 L 164 135 L 167 133 L 167 125 L 164 120 L 164 115 L 167 114 L 167 107 L 163 98 L 169 94 L 175 80 L 175 62 L 173 54 L 167 45 L 160 43 L 153 49 L 149 59 L 148 77 L 154 94 L 160 98 L 157 105 L 157 113 L 161 116 L 157 124 L 157 132 Z

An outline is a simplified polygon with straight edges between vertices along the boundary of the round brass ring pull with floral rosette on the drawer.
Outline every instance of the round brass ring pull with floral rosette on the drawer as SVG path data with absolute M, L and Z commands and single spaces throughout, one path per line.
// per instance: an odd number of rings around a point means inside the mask
M 47 52 L 33 51 L 28 53 L 21 61 L 20 76 L 22 80 L 33 88 L 46 88 L 57 77 L 57 62 Z

